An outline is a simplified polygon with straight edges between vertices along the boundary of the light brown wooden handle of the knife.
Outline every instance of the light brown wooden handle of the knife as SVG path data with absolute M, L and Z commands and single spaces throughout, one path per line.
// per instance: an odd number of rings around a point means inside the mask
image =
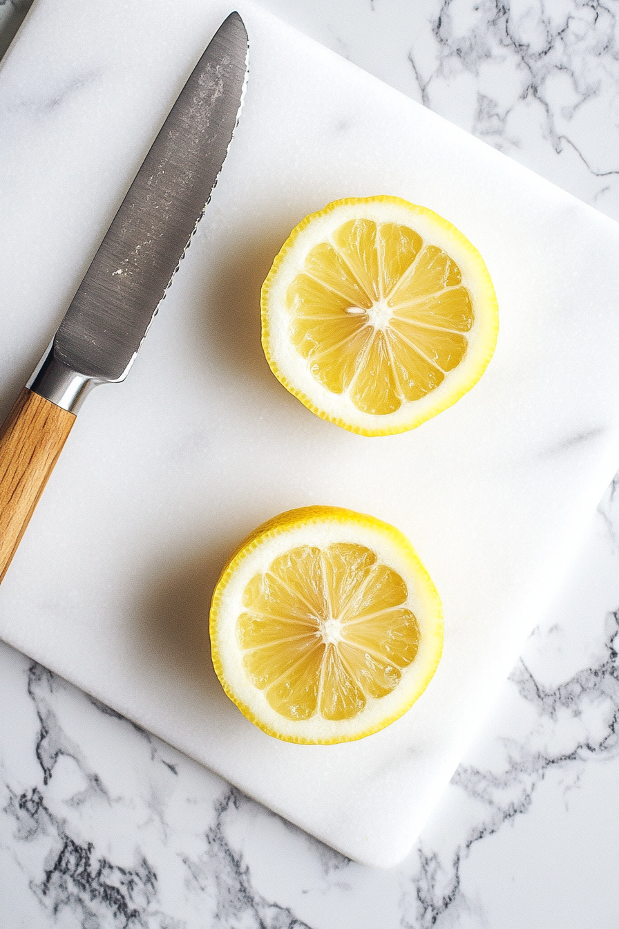
M 0 581 L 74 422 L 74 413 L 24 388 L 0 426 Z

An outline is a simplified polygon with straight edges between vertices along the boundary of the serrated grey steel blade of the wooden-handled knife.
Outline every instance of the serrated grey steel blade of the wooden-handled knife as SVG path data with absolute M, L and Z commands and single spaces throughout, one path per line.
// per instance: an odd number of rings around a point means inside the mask
M 226 159 L 247 62 L 247 33 L 231 13 L 174 103 L 60 324 L 50 353 L 57 380 L 63 368 L 91 383 L 122 380 L 129 370 Z M 41 389 L 49 369 L 47 362 L 32 390 L 58 402 Z M 58 405 L 73 409 L 70 402 Z

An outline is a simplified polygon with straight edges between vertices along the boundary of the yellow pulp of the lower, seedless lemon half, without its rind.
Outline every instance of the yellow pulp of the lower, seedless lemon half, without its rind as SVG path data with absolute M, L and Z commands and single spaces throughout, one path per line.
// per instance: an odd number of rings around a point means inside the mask
M 406 583 L 363 545 L 303 545 L 245 588 L 243 666 L 289 719 L 350 719 L 384 697 L 415 659 L 419 623 Z

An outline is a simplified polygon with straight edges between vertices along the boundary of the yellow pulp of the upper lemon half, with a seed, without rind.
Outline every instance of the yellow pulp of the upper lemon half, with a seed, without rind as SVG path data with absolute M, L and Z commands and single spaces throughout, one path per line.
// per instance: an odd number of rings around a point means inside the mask
M 455 261 L 413 229 L 344 223 L 290 284 L 290 338 L 333 393 L 384 414 L 430 393 L 464 357 L 471 294 Z

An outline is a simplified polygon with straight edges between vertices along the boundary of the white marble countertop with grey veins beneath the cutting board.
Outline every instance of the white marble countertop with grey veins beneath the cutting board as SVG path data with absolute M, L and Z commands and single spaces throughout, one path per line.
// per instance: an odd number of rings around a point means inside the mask
M 617 0 L 260 0 L 619 219 Z M 25 4 L 0 0 L 0 50 Z M 619 479 L 411 855 L 349 862 L 0 644 L 0 929 L 619 922 Z

